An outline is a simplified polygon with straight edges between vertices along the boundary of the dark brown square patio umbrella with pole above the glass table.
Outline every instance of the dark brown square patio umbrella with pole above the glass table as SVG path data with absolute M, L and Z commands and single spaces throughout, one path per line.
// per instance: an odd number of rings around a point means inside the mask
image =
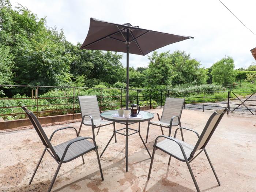
M 129 53 L 146 55 L 163 46 L 193 37 L 123 25 L 91 18 L 86 39 L 80 49 L 126 53 L 126 109 L 129 101 Z

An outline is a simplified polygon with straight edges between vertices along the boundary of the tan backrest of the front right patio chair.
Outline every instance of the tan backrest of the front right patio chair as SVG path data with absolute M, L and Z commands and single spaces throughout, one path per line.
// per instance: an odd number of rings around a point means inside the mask
M 211 139 L 212 134 L 214 133 L 215 129 L 217 128 L 219 122 L 221 121 L 223 115 L 227 112 L 227 110 L 228 109 L 225 108 L 212 113 L 195 145 L 195 148 L 190 155 L 191 157 L 194 156 L 197 150 L 206 147 L 207 143 Z

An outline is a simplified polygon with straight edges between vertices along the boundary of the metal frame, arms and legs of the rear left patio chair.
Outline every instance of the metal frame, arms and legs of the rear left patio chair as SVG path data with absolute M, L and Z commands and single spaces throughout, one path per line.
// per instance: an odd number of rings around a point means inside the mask
M 93 96 L 93 95 L 92 95 Z M 95 97 L 97 98 L 97 96 L 95 95 Z M 80 109 L 81 109 L 81 105 L 80 105 L 80 100 L 79 100 L 79 97 L 78 97 L 78 101 L 79 101 L 79 106 L 80 106 Z M 98 103 L 97 103 L 98 104 Z M 81 113 L 81 115 L 82 115 L 82 113 Z M 89 124 L 84 124 L 84 118 L 85 117 L 90 117 L 90 119 L 91 119 L 91 125 L 89 125 Z M 106 126 L 106 125 L 111 125 L 111 124 L 113 124 L 113 127 L 114 127 L 114 129 L 113 129 L 113 132 L 114 132 L 114 138 L 115 138 L 115 143 L 117 142 L 116 141 L 116 123 L 115 122 L 111 122 L 111 123 L 107 123 L 107 124 L 104 124 L 104 125 L 99 125 L 99 126 L 94 126 L 94 123 L 93 123 L 93 116 L 91 116 L 90 114 L 84 114 L 83 116 L 82 116 L 82 121 L 81 121 L 81 124 L 80 124 L 80 127 L 79 127 L 79 131 L 78 131 L 78 136 L 80 135 L 80 131 L 81 131 L 81 129 L 82 129 L 82 126 L 83 125 L 85 125 L 85 126 L 91 126 L 91 128 L 92 128 L 92 131 L 93 131 L 93 139 L 95 140 L 95 132 L 94 132 L 94 129 L 97 129 L 98 128 L 98 131 L 97 131 L 97 135 L 99 134 L 99 129 L 101 128 L 101 127 L 104 127 L 104 126 Z

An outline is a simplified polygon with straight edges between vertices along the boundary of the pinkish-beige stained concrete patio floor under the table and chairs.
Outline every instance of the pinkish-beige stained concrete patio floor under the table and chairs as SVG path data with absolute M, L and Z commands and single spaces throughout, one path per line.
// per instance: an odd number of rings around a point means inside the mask
M 162 109 L 149 110 L 162 113 Z M 212 112 L 183 110 L 182 127 L 202 132 Z M 155 117 L 157 118 L 157 117 Z M 212 173 L 204 153 L 192 163 L 201 191 L 256 191 L 256 117 L 225 115 L 208 143 L 206 149 L 217 172 L 221 186 Z M 80 123 L 67 124 L 79 128 Z M 57 128 L 65 125 L 45 127 L 48 136 Z M 117 124 L 117 128 L 123 125 Z M 131 125 L 137 128 L 138 124 Z M 173 128 L 173 132 L 176 127 Z M 96 142 L 99 153 L 102 152 L 112 135 L 113 125 L 102 127 Z M 165 135 L 167 129 L 163 128 Z M 97 129 L 95 130 L 95 133 Z M 141 134 L 146 139 L 147 122 L 141 123 Z M 148 149 L 153 150 L 155 138 L 161 134 L 160 127 L 151 125 Z M 91 128 L 83 126 L 81 136 L 91 136 Z M 61 143 L 75 137 L 74 130 L 56 133 L 53 144 Z M 178 136 L 180 138 L 180 135 Z M 197 137 L 184 131 L 186 142 L 195 144 Z M 52 191 L 94 191 L 94 192 L 155 192 L 155 191 L 196 191 L 188 168 L 184 162 L 172 158 L 160 150 L 155 153 L 151 178 L 147 180 L 150 158 L 138 134 L 129 136 L 129 165 L 125 172 L 125 137 L 117 134 L 101 158 L 104 181 L 101 181 L 97 158 L 94 151 L 84 155 L 85 165 L 81 158 L 63 163 Z M 35 174 L 31 185 L 28 185 L 33 170 L 44 150 L 44 146 L 34 129 L 0 133 L 0 191 L 47 191 L 57 163 L 46 153 Z

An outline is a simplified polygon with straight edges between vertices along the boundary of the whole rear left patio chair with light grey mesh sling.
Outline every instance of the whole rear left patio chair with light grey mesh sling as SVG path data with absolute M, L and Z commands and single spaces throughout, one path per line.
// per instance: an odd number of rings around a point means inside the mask
M 93 96 L 78 96 L 78 101 L 82 114 L 82 121 L 78 131 L 78 135 L 80 134 L 82 125 L 89 125 L 93 129 L 93 139 L 95 140 L 94 129 L 98 128 L 97 135 L 99 133 L 99 129 L 103 126 L 113 124 L 114 129 L 116 130 L 115 122 L 102 120 L 99 112 L 99 105 L 96 95 Z M 116 142 L 116 132 L 114 132 L 115 142 Z

